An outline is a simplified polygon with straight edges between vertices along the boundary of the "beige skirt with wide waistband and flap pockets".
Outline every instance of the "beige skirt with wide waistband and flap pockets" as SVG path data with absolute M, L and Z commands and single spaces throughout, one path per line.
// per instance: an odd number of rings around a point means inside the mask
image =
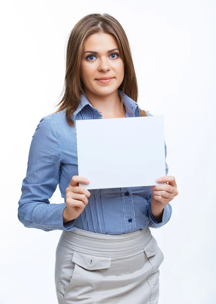
M 56 248 L 59 304 L 157 304 L 163 253 L 149 226 L 122 235 L 76 228 Z

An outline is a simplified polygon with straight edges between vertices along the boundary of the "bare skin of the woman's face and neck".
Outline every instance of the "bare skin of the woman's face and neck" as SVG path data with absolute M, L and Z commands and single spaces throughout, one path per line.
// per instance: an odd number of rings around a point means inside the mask
M 85 94 L 103 118 L 125 117 L 126 114 L 118 95 L 118 88 L 124 79 L 124 62 L 119 50 L 107 53 L 113 49 L 119 49 L 119 46 L 115 38 L 106 33 L 92 34 L 83 47 L 81 78 Z M 86 53 L 87 51 L 95 51 L 98 54 Z M 106 84 L 96 80 L 103 76 L 114 79 Z

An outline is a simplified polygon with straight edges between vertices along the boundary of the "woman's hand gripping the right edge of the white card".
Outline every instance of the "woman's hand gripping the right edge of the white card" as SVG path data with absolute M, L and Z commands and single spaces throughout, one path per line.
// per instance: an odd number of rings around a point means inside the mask
M 178 195 L 174 176 L 162 176 L 161 180 L 157 179 L 157 182 L 166 182 L 166 184 L 151 187 L 153 190 L 151 205 L 155 211 L 165 208 L 166 205 Z

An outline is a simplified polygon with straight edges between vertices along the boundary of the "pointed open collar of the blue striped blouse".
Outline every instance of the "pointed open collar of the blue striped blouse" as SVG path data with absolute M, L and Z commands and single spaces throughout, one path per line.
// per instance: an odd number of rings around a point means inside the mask
M 122 98 L 122 91 L 118 89 L 118 93 L 119 93 L 119 97 L 120 99 Z M 124 93 L 123 96 L 123 103 L 126 109 L 126 112 L 129 114 L 130 117 L 135 117 L 135 109 L 138 107 L 138 104 L 132 99 L 130 98 L 128 95 L 126 95 Z M 88 98 L 83 95 L 81 93 L 81 99 L 80 99 L 80 103 L 76 109 L 76 111 L 73 113 L 73 116 L 76 118 L 77 114 L 84 108 L 84 106 L 86 105 L 91 106 L 93 109 L 95 109 L 92 104 L 90 103 L 90 101 L 88 100 Z

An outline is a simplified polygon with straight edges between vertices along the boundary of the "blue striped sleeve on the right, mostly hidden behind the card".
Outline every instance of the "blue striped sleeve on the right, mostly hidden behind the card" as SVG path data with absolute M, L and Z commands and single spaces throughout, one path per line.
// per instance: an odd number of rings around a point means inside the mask
M 165 141 L 164 141 L 164 145 L 165 145 L 165 170 L 166 170 L 166 175 L 167 175 L 167 173 L 169 171 L 169 168 L 168 168 L 168 165 L 166 163 L 167 150 L 166 150 L 166 142 Z M 152 211 L 151 211 L 152 193 L 153 193 L 153 191 L 151 192 L 150 196 L 147 198 L 147 202 L 148 202 L 147 214 L 148 214 L 148 217 L 149 217 L 149 226 L 152 227 L 152 228 L 160 228 L 161 226 L 163 226 L 164 224 L 166 224 L 169 221 L 169 219 L 171 217 L 171 214 L 172 214 L 172 207 L 169 203 L 166 205 L 166 207 L 163 209 L 162 221 L 160 223 L 158 223 L 155 220 L 154 216 L 152 215 Z

